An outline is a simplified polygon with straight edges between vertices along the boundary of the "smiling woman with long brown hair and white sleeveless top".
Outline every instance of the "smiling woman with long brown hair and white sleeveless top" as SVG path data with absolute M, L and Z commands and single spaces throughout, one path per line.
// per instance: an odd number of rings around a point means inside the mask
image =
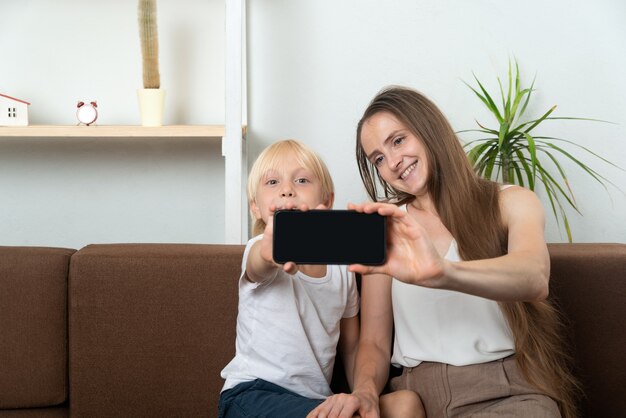
M 378 417 L 390 359 L 391 389 L 417 392 L 429 417 L 575 416 L 535 194 L 479 178 L 441 111 L 407 88 L 370 103 L 356 152 L 369 196 L 393 203 L 351 205 L 389 217 L 388 259 L 351 267 L 364 274 L 354 391 L 309 417 Z

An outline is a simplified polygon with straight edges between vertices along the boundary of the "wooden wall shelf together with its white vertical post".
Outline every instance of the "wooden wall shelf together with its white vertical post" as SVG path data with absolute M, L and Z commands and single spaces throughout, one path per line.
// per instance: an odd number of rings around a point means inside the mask
M 24 127 L 0 126 L 0 148 L 23 142 L 26 147 L 40 143 L 74 144 L 100 143 L 99 138 L 110 138 L 116 147 L 128 143 L 221 142 L 224 157 L 224 243 L 245 244 L 248 241 L 248 205 L 245 182 L 247 178 L 247 127 L 243 110 L 246 109 L 246 0 L 228 0 L 225 5 L 225 111 L 224 125 L 168 125 L 143 127 L 137 125 L 32 125 Z M 70 121 L 73 122 L 73 119 Z M 158 141 L 152 141 L 153 138 Z M 133 139 L 133 140 L 129 140 Z M 215 141 L 217 143 L 217 141 Z M 0 152 L 3 152 L 0 149 Z

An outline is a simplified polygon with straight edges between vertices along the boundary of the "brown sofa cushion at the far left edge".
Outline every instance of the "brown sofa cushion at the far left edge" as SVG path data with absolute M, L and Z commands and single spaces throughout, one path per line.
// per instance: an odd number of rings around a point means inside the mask
M 0 409 L 67 398 L 67 275 L 74 251 L 0 247 Z

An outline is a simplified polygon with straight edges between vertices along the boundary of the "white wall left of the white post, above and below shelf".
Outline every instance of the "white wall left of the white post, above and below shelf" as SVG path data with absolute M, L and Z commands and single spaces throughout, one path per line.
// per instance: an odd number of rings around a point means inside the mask
M 159 0 L 166 124 L 224 123 L 224 2 Z M 135 0 L 0 3 L 0 92 L 30 124 L 138 125 Z M 224 240 L 219 139 L 0 138 L 0 245 Z

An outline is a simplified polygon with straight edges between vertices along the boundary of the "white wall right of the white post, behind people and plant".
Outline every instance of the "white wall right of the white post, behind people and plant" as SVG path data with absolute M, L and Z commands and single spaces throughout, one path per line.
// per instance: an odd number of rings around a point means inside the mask
M 417 88 L 456 130 L 469 129 L 475 118 L 490 120 L 461 80 L 474 72 L 495 89 L 516 57 L 526 83 L 537 74 L 532 115 L 557 104 L 557 116 L 617 123 L 553 122 L 537 133 L 571 139 L 626 168 L 625 18 L 622 0 L 251 0 L 251 157 L 274 140 L 299 138 L 330 166 L 335 207 L 361 201 L 354 128 L 380 88 Z M 573 153 L 626 192 L 624 171 Z M 566 167 L 584 215 L 570 211 L 574 240 L 626 242 L 624 193 L 607 194 Z M 547 240 L 565 241 L 547 219 Z

